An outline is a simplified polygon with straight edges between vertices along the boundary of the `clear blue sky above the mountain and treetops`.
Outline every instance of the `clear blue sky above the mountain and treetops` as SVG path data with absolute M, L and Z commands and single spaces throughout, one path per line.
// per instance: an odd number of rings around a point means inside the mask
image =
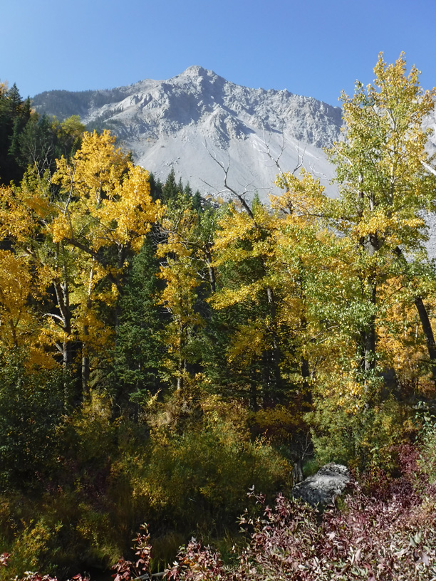
M 436 85 L 435 0 L 17 0 L 0 8 L 0 80 L 23 97 L 167 79 L 191 65 L 338 105 L 378 53 Z

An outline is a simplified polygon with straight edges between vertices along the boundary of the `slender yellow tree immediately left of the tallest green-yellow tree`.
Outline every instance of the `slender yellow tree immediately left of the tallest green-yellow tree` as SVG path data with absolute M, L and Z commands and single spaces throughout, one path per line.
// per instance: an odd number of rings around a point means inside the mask
M 276 186 L 283 192 L 271 196 L 274 268 L 284 293 L 280 316 L 289 334 L 295 337 L 293 356 L 301 362 L 301 378 L 307 388 L 315 372 L 315 360 L 320 357 L 318 346 L 326 338 L 319 310 L 313 308 L 312 287 L 320 270 L 330 266 L 327 248 L 332 237 L 325 219 L 329 199 L 319 180 L 305 170 L 298 177 L 293 172 L 280 174 Z

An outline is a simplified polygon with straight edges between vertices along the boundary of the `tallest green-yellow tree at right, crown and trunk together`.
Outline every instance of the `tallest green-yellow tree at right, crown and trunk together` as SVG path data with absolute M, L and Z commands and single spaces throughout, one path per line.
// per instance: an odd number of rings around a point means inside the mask
M 329 151 L 341 192 L 338 229 L 360 251 L 367 312 L 358 342 L 360 367 L 368 377 L 377 361 L 378 290 L 394 265 L 408 269 L 405 256 L 425 256 L 422 211 L 435 209 L 435 177 L 425 169 L 429 158 L 422 121 L 434 108 L 436 92 L 422 90 L 415 66 L 407 74 L 403 53 L 393 64 L 380 53 L 374 73 L 372 85 L 356 82 L 353 97 L 343 93 L 344 140 Z M 435 339 L 419 290 L 414 302 L 432 361 Z

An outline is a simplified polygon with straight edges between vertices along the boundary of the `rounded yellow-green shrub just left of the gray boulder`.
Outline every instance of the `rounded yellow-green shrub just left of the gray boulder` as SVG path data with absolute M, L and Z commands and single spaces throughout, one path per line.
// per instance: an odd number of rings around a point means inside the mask
M 289 482 L 291 466 L 268 441 L 251 441 L 242 407 L 212 397 L 199 408 L 182 431 L 173 416 L 169 424 L 157 422 L 146 445 L 125 451 L 113 467 L 114 489 L 128 481 L 135 513 L 157 535 L 165 529 L 220 535 L 234 527 L 249 486 L 273 494 Z M 160 413 L 164 422 L 165 409 Z

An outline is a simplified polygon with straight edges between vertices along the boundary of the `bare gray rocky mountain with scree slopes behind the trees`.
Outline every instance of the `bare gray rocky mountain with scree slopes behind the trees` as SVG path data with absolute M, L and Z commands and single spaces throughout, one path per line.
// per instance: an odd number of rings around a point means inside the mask
M 279 172 L 276 161 L 288 171 L 301 160 L 334 194 L 328 185 L 333 167 L 322 148 L 339 137 L 341 108 L 287 90 L 242 87 L 193 66 L 169 80 L 48 91 L 32 106 L 60 120 L 80 115 L 90 129 L 113 130 L 137 164 L 162 180 L 174 168 L 177 179 L 202 194 L 222 192 L 224 167 L 231 187 L 266 199 Z

